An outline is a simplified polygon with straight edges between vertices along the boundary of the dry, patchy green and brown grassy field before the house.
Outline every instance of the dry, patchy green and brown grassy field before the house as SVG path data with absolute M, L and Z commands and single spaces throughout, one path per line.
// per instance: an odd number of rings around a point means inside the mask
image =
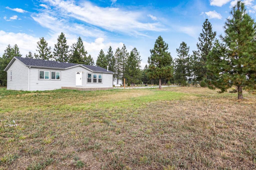
M 256 96 L 244 97 L 0 88 L 0 169 L 255 169 Z

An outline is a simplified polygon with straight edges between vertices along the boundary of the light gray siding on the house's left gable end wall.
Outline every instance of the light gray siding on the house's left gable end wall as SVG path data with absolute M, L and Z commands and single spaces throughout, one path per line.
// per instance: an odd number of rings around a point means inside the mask
M 10 71 L 12 71 L 12 81 Z M 7 70 L 7 89 L 28 90 L 28 67 L 18 60 L 15 60 Z

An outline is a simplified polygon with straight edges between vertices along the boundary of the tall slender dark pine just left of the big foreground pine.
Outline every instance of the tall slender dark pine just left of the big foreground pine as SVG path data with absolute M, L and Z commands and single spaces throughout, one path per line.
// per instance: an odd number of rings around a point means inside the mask
M 197 71 L 199 81 L 202 81 L 206 77 L 206 56 L 209 54 L 209 51 L 211 51 L 216 36 L 216 32 L 212 31 L 212 25 L 208 19 L 205 20 L 202 27 L 202 33 L 200 33 L 200 37 L 198 37 L 199 43 L 196 44 L 198 58 L 200 60 Z

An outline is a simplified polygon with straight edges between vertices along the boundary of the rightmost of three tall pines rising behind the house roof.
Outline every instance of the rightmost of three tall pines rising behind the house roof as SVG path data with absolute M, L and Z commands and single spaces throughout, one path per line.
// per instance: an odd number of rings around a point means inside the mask
M 77 51 L 77 53 L 74 53 L 75 50 Z M 86 56 L 87 54 L 88 53 L 84 48 L 82 38 L 78 37 L 77 43 L 73 43 L 71 46 L 69 62 L 89 65 Z

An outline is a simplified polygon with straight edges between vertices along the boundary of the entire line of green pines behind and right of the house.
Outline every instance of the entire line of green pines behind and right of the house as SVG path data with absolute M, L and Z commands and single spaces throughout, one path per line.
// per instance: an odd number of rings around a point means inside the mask
M 125 45 L 117 48 L 115 53 L 111 46 L 106 54 L 101 49 L 96 65 L 103 68 L 109 66 L 117 82 L 126 79 L 128 84 L 144 82 L 159 84 L 159 88 L 162 84 L 171 83 L 181 86 L 200 84 L 202 87 L 218 88 L 220 93 L 236 87 L 231 92 L 238 93 L 238 99 L 242 99 L 243 87 L 253 93 L 256 90 L 256 25 L 241 1 L 232 8 L 230 15 L 223 27 L 225 35 L 220 35 L 220 40 L 217 40 L 209 20 L 205 20 L 197 49 L 192 54 L 189 53 L 189 46 L 182 42 L 176 49 L 177 58 L 173 60 L 168 44 L 159 36 L 143 70 L 138 50 L 133 48 L 129 53 Z M 37 42 L 36 51 L 37 54 L 29 52 L 26 57 L 94 65 L 81 37 L 69 50 L 66 37 L 61 33 L 53 54 L 42 37 Z M 3 70 L 14 56 L 22 56 L 19 48 L 8 45 L 0 58 L 0 81 L 4 85 L 7 76 Z

